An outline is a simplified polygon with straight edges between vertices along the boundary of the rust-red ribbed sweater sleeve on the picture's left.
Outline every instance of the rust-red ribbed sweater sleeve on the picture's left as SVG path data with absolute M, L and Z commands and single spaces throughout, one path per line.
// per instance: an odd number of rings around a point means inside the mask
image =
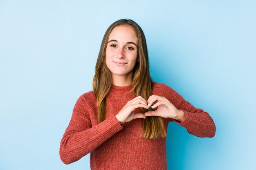
M 78 161 L 123 129 L 115 115 L 111 115 L 92 127 L 88 115 L 90 112 L 92 109 L 87 106 L 81 95 L 74 106 L 70 123 L 61 139 L 59 155 L 63 163 L 70 164 Z

